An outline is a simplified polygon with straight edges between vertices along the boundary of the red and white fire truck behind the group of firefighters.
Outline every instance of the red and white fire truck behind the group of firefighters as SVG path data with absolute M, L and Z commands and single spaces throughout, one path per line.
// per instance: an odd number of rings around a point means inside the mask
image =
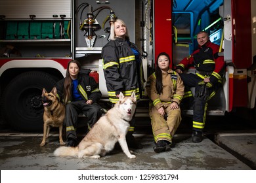
M 171 56 L 174 69 L 197 48 L 196 33 L 207 31 L 211 42 L 224 49 L 220 54 L 226 62 L 223 88 L 209 102 L 208 115 L 244 108 L 255 119 L 254 0 L 0 0 L 0 4 L 1 124 L 18 131 L 41 131 L 42 90 L 51 91 L 65 77 L 72 59 L 91 71 L 102 103 L 108 103 L 101 50 L 115 18 L 124 20 L 131 42 L 140 48 L 145 78 L 154 71 L 160 52 Z M 142 100 L 137 116 L 148 115 L 147 102 Z

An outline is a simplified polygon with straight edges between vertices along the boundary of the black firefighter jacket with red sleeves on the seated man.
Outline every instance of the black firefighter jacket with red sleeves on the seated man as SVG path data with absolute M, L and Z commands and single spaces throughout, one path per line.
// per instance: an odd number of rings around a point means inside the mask
M 224 58 L 218 56 L 219 45 L 206 42 L 203 46 L 199 46 L 188 58 L 182 59 L 176 69 L 184 71 L 188 67 L 195 67 L 199 73 L 211 73 L 209 79 L 211 84 L 216 84 L 223 76 Z M 200 75 L 198 75 L 200 76 Z

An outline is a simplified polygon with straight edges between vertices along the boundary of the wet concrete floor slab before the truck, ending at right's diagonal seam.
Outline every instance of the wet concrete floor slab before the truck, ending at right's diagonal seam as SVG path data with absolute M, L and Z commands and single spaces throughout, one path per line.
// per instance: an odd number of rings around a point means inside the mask
M 82 137 L 81 137 L 82 138 Z M 175 146 L 169 152 L 156 154 L 152 135 L 135 134 L 144 145 L 134 150 L 129 159 L 114 150 L 100 159 L 59 158 L 53 156 L 59 146 L 58 134 L 51 133 L 47 144 L 40 147 L 42 134 L 1 133 L 1 170 L 249 170 L 251 167 L 204 137 L 193 143 L 188 134 L 175 135 Z

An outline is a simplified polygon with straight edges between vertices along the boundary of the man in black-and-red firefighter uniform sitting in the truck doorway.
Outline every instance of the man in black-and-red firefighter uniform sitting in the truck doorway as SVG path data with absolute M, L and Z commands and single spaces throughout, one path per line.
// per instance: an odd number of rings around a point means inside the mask
M 185 86 L 183 99 L 193 97 L 190 88 L 195 87 L 193 103 L 193 142 L 202 141 L 207 102 L 222 86 L 222 76 L 224 72 L 224 58 L 218 54 L 221 51 L 219 45 L 211 42 L 208 33 L 205 31 L 198 33 L 197 41 L 198 49 L 188 56 L 188 58 L 182 59 L 176 67 L 176 71 L 180 74 Z M 196 68 L 195 74 L 182 73 L 190 66 Z

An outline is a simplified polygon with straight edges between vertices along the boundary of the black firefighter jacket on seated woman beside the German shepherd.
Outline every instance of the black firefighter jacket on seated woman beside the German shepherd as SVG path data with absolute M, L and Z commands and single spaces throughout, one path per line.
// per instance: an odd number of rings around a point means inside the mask
M 65 78 L 56 83 L 57 97 L 58 99 L 60 99 L 60 101 L 62 101 L 63 99 L 64 80 Z M 96 84 L 95 79 L 89 75 L 79 73 L 77 80 L 77 91 L 79 92 L 83 100 L 92 100 L 93 103 L 98 103 L 101 97 L 101 92 L 98 89 L 98 84 Z

